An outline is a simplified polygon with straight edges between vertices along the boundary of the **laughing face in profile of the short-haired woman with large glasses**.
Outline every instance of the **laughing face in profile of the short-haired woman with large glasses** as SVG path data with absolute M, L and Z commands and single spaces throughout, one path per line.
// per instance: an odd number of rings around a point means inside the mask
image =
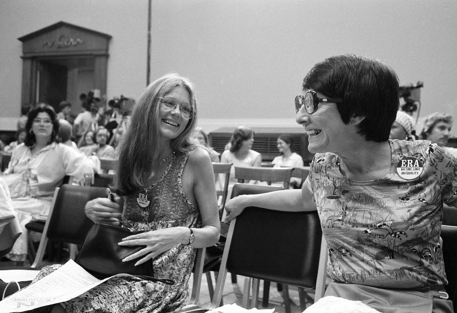
M 303 96 L 310 91 L 305 89 Z M 329 98 L 317 92 L 319 98 Z M 295 120 L 303 125 L 308 134 L 308 150 L 311 153 L 333 152 L 339 154 L 347 149 L 346 143 L 357 135 L 356 125 L 346 125 L 341 120 L 340 113 L 335 103 L 319 103 L 318 109 L 313 114 L 308 114 L 304 105 L 298 111 Z

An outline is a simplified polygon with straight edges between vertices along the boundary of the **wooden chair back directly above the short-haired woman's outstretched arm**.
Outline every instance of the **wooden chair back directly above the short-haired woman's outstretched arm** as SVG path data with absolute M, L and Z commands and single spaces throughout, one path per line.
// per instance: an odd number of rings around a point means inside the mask
M 244 180 L 260 180 L 262 182 L 283 182 L 284 189 L 289 188 L 293 167 L 236 167 L 235 178 L 238 183 Z

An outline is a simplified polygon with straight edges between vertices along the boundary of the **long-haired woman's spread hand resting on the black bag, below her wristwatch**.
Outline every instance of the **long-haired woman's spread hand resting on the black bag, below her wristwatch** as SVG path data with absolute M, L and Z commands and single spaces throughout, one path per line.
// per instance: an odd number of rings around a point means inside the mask
M 170 227 L 162 230 L 151 230 L 146 233 L 123 238 L 118 245 L 145 245 L 146 247 L 127 256 L 122 262 L 131 261 L 143 256 L 142 259 L 135 263 L 135 266 L 137 266 L 158 256 L 166 250 L 170 250 L 173 246 L 181 243 L 183 231 L 185 231 L 185 228 Z

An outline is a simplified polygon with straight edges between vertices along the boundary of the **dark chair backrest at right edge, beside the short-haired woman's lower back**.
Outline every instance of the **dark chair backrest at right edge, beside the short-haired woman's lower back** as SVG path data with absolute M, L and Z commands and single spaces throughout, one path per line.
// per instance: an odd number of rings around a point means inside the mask
M 454 311 L 457 312 L 457 226 L 441 225 L 443 239 L 443 259 L 448 284 L 446 292 L 452 300 Z

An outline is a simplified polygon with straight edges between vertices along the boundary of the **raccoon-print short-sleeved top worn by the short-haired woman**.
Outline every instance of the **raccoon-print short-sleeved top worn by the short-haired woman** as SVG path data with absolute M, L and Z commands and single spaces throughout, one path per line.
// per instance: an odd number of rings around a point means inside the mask
M 355 181 L 340 172 L 340 157 L 316 154 L 306 184 L 328 242 L 329 276 L 381 288 L 447 283 L 440 238 L 443 202 L 456 206 L 457 159 L 430 141 L 389 140 L 388 175 Z M 405 180 L 397 164 L 414 156 L 424 168 Z

